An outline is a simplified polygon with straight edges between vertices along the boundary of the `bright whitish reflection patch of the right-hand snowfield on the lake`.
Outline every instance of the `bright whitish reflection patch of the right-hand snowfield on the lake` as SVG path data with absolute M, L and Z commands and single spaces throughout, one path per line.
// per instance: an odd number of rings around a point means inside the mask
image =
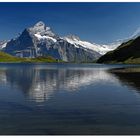
M 77 89 L 82 86 L 87 86 L 90 84 L 101 84 L 104 82 L 116 82 L 116 78 L 111 74 L 107 73 L 103 70 L 87 70 L 82 73 L 82 75 L 75 75 L 69 77 L 65 85 L 62 85 L 62 88 L 66 88 L 68 90 Z

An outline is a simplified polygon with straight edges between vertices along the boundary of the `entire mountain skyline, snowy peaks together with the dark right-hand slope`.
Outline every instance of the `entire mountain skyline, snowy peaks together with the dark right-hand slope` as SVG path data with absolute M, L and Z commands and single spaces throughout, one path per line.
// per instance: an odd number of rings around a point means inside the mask
M 78 36 L 60 37 L 39 21 L 16 38 L 0 41 L 0 50 L 21 58 L 51 56 L 55 61 L 98 63 L 137 63 L 140 61 L 140 29 L 126 39 L 110 44 L 96 44 Z

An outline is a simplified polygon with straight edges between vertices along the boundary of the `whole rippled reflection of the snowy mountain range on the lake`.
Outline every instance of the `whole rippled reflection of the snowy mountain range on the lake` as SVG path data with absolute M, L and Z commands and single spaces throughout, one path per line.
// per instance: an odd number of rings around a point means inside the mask
M 0 68 L 0 83 L 19 89 L 26 97 L 44 102 L 62 90 L 72 93 L 91 84 L 117 84 L 103 68 L 10 67 Z

